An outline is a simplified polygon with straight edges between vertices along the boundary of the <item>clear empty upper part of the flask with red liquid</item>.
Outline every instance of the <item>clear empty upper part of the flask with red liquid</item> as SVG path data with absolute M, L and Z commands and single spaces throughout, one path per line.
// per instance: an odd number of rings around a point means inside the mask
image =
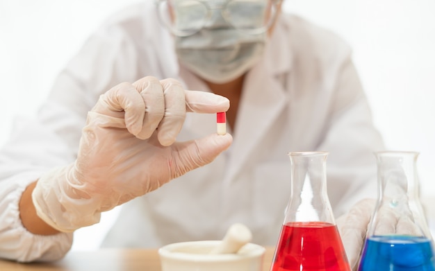
M 290 152 L 291 193 L 285 222 L 335 225 L 327 195 L 327 152 Z

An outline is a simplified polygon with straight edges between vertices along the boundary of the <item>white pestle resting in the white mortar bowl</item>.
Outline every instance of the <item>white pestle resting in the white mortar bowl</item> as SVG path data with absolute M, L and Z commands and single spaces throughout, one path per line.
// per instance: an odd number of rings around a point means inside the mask
M 252 233 L 245 225 L 236 223 L 227 230 L 222 242 L 217 245 L 210 254 L 231 254 L 237 253 L 240 247 L 252 240 Z

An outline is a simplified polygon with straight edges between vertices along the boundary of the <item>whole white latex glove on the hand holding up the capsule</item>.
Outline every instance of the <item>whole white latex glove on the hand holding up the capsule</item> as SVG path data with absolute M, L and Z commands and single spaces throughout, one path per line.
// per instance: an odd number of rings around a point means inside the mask
M 38 180 L 32 194 L 38 216 L 59 231 L 74 231 L 210 163 L 230 146 L 230 134 L 175 140 L 186 112 L 228 108 L 227 98 L 184 90 L 173 79 L 146 77 L 113 87 L 88 113 L 76 161 Z

